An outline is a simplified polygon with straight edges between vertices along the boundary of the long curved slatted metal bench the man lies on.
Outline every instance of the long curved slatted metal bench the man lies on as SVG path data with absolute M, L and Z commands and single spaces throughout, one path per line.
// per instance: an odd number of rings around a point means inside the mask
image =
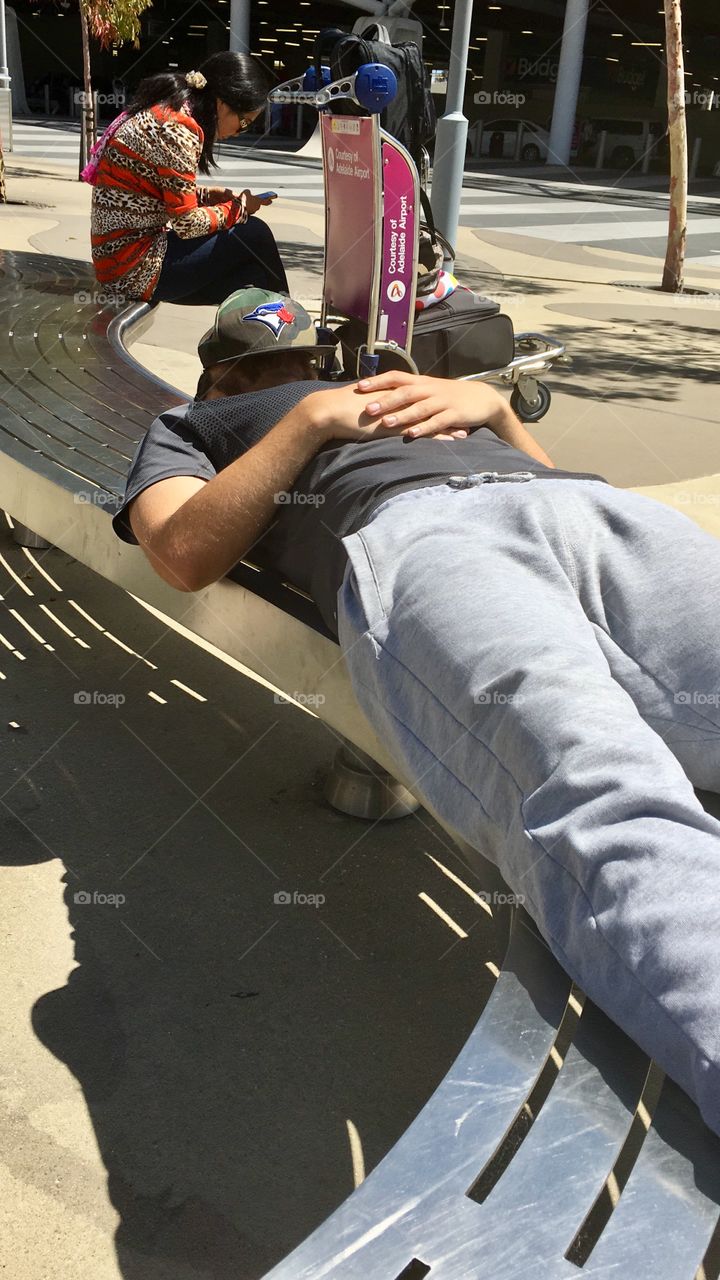
M 126 349 L 147 319 L 92 301 L 86 264 L 0 251 L 0 507 L 273 687 L 325 695 L 322 718 L 375 769 L 395 762 L 301 593 L 252 566 L 173 591 L 109 515 L 152 416 L 182 397 Z M 451 835 L 454 835 L 451 832 Z M 459 841 L 492 892 L 497 872 Z M 521 910 L 457 1061 L 354 1194 L 273 1280 L 712 1280 L 720 1140 L 614 1027 Z

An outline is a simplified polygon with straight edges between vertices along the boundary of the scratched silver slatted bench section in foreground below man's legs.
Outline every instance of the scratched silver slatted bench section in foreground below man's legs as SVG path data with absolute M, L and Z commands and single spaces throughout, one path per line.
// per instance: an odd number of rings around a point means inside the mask
M 693 1280 L 717 1219 L 720 1142 L 674 1085 L 589 1260 L 579 1268 L 566 1256 L 624 1151 L 650 1068 L 591 1004 L 496 1185 L 480 1204 L 468 1198 L 530 1094 L 568 992 L 537 934 L 516 927 L 446 1079 L 366 1181 L 266 1280 L 400 1280 L 414 1261 L 429 1280 Z

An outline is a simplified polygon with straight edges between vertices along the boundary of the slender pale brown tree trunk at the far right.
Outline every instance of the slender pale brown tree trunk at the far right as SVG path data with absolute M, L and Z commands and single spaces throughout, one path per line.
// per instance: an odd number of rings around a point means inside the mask
M 688 125 L 680 0 L 665 0 L 665 47 L 670 131 L 670 225 L 662 288 L 666 293 L 679 293 L 683 288 L 688 234 Z

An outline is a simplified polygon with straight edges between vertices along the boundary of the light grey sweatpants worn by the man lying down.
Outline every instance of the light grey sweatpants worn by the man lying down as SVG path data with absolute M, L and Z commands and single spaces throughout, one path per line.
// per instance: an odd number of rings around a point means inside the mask
M 389 499 L 340 639 L 419 797 L 720 1133 L 720 541 L 587 480 Z

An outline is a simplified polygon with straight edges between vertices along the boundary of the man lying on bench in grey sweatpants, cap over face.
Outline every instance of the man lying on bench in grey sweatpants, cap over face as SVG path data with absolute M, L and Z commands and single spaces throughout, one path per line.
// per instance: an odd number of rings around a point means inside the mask
M 332 349 L 223 303 L 117 532 L 179 590 L 250 556 L 309 591 L 418 797 L 720 1133 L 720 543 L 555 470 L 487 384 L 319 384 Z

